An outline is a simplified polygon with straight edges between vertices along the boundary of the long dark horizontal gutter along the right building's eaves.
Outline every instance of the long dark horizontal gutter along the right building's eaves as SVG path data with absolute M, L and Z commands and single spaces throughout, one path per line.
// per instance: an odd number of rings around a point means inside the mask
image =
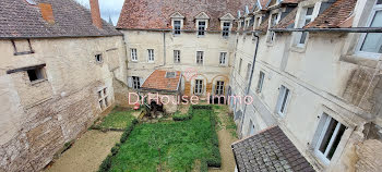
M 327 33 L 382 33 L 382 27 L 350 27 L 350 28 L 270 28 L 275 33 L 289 32 L 327 32 Z

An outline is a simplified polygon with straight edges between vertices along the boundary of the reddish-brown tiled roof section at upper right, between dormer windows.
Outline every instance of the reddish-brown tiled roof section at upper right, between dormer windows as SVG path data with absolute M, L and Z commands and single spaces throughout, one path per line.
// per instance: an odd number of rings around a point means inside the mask
M 354 11 L 357 0 L 337 0 L 305 28 L 339 27 Z

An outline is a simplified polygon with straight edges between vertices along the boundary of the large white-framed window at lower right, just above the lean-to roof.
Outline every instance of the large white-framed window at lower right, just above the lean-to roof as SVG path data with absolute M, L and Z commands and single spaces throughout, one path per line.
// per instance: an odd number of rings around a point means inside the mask
M 329 163 L 338 147 L 341 138 L 345 133 L 346 126 L 326 113 L 322 114 L 320 124 L 321 127 L 319 126 L 319 139 L 315 145 L 314 152 L 325 163 Z

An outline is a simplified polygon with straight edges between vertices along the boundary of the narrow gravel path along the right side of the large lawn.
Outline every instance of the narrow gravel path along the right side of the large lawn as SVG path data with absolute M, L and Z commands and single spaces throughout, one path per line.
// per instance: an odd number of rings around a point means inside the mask
M 223 107 L 223 106 L 222 106 Z M 219 139 L 219 150 L 222 155 L 222 168 L 220 169 L 208 169 L 208 172 L 234 172 L 235 171 L 235 158 L 234 152 L 230 145 L 237 140 L 230 133 L 231 131 L 227 130 L 227 116 L 228 112 L 226 109 L 217 110 L 219 121 L 222 122 L 219 125 L 219 131 L 217 132 L 217 136 Z

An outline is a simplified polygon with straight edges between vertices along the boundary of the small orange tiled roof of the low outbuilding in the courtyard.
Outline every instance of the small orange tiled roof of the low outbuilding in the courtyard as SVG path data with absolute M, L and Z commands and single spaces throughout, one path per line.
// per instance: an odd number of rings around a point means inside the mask
M 155 70 L 143 83 L 142 88 L 177 91 L 181 73 L 177 71 L 175 72 L 176 76 L 174 78 L 166 78 L 166 72 L 167 71 Z

